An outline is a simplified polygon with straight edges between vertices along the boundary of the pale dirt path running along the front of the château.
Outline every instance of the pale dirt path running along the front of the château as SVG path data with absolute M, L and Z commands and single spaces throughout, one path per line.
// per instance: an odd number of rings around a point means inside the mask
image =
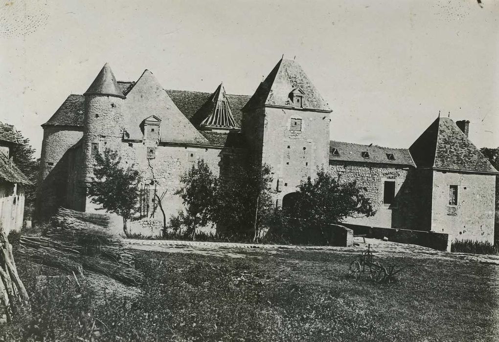
M 330 247 L 330 246 L 287 246 L 287 245 L 262 245 L 232 242 L 201 242 L 201 241 L 177 241 L 177 240 L 138 240 L 126 239 L 128 248 L 168 253 L 196 253 L 232 258 L 258 258 L 262 253 L 279 254 L 286 250 L 299 251 L 331 251 L 335 253 L 360 253 L 371 245 L 371 249 L 379 256 L 395 255 L 411 256 L 414 258 L 438 258 L 447 260 L 474 261 L 487 264 L 499 265 L 499 256 L 476 255 L 467 253 L 449 253 L 435 249 L 382 241 L 366 238 L 354 239 L 352 247 Z

